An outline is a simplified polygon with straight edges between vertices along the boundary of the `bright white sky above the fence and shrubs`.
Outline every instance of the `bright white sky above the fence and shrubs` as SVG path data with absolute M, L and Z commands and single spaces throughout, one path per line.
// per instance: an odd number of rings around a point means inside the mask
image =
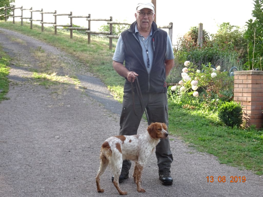
M 16 0 L 16 7 L 31 8 L 38 10 L 43 8 L 44 12 L 70 13 L 74 16 L 91 14 L 91 18 L 110 18 L 113 20 L 134 22 L 137 1 L 134 0 Z M 203 23 L 203 28 L 209 33 L 216 33 L 218 25 L 223 22 L 230 22 L 231 25 L 244 27 L 246 22 L 252 18 L 254 9 L 253 0 L 156 0 L 156 23 L 158 25 L 168 25 L 173 22 L 173 41 L 179 35 L 189 31 L 191 27 Z M 16 11 L 15 15 L 20 13 Z M 23 16 L 30 17 L 30 13 L 23 12 Z M 49 18 L 50 17 L 50 18 Z M 41 19 L 41 14 L 33 13 L 33 19 Z M 18 17 L 15 20 L 20 20 Z M 70 23 L 67 16 L 58 16 L 57 24 Z M 44 15 L 45 22 L 53 22 L 52 14 Z M 85 18 L 73 18 L 73 24 L 87 27 L 88 21 Z M 91 30 L 97 31 L 106 22 L 91 22 Z M 173 44 L 175 44 L 173 42 Z

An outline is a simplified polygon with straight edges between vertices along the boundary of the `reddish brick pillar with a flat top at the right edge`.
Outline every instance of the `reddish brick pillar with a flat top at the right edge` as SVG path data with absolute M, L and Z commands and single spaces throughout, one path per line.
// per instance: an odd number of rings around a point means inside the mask
M 263 128 L 263 71 L 234 72 L 234 101 L 243 106 L 243 120 L 248 126 Z

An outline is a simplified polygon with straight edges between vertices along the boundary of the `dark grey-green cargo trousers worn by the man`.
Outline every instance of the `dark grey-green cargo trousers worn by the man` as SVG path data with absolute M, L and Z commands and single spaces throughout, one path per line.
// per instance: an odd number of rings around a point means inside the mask
M 168 102 L 166 93 L 142 93 L 144 106 L 147 110 L 150 123 L 162 122 L 168 126 Z M 134 113 L 136 112 L 136 114 Z M 122 113 L 120 116 L 120 135 L 136 135 L 143 116 L 144 109 L 141 107 L 138 95 L 124 93 Z M 146 130 L 146 129 L 145 129 Z M 170 150 L 169 137 L 161 139 L 156 146 L 156 158 L 159 172 L 170 171 L 173 155 Z M 131 167 L 129 160 L 124 160 L 122 174 L 125 175 Z

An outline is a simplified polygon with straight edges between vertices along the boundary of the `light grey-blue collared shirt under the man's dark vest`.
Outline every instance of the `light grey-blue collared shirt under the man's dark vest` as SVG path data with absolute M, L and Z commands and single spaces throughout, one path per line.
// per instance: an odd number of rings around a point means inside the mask
M 148 73 L 150 73 L 151 66 L 153 63 L 153 50 L 151 48 L 152 30 L 146 39 L 140 35 L 138 28 L 137 28 L 137 25 L 135 26 L 135 33 L 138 33 L 138 36 L 139 36 L 139 42 L 140 42 L 140 45 L 141 45 L 141 48 L 143 51 L 143 60 L 144 60 L 145 68 L 147 69 Z M 148 63 L 147 63 L 146 49 L 148 49 L 148 56 L 149 56 L 149 60 L 150 60 L 150 66 L 149 67 L 148 67 Z M 172 42 L 171 42 L 171 39 L 170 39 L 168 34 L 167 34 L 166 53 L 165 53 L 164 58 L 165 58 L 165 60 L 174 59 Z M 118 42 L 117 42 L 117 45 L 115 48 L 115 53 L 114 53 L 112 59 L 114 61 L 117 61 L 120 63 L 124 62 L 124 45 L 123 45 L 123 39 L 122 39 L 121 35 L 118 39 Z

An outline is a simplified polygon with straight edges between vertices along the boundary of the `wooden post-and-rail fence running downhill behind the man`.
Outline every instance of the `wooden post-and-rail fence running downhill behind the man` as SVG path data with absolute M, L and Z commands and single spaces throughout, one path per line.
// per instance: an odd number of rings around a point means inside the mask
M 23 6 L 21 7 L 15 7 L 10 6 L 10 7 L 0 7 L 0 10 L 4 9 L 5 14 L 1 14 L 0 16 L 4 16 L 5 21 L 7 21 L 8 17 L 13 17 L 13 23 L 15 23 L 15 18 L 16 17 L 20 17 L 21 19 L 21 25 L 23 25 L 23 19 L 29 19 L 30 21 L 30 29 L 33 28 L 33 21 L 39 21 L 41 24 L 41 30 L 42 32 L 44 32 L 44 24 L 52 24 L 54 27 L 54 34 L 57 34 L 57 27 L 67 27 L 68 30 L 70 30 L 70 38 L 73 38 L 73 30 L 85 30 L 85 32 L 88 34 L 88 44 L 90 44 L 90 35 L 91 34 L 98 34 L 98 35 L 107 35 L 107 38 L 109 38 L 109 49 L 112 49 L 112 39 L 118 39 L 119 36 L 118 35 L 113 35 L 113 25 L 130 25 L 131 23 L 126 23 L 126 22 L 114 22 L 112 20 L 112 17 L 107 18 L 107 19 L 101 19 L 101 18 L 91 18 L 90 14 L 88 14 L 87 16 L 73 16 L 72 12 L 70 12 L 69 14 L 58 14 L 57 11 L 55 10 L 54 12 L 44 12 L 43 8 L 41 10 L 33 10 L 33 8 L 31 7 L 30 9 L 25 9 L 23 8 Z M 7 10 L 11 9 L 13 14 L 8 14 L 7 15 Z M 20 9 L 21 10 L 21 15 L 15 16 L 15 10 L 16 9 Z M 23 11 L 29 11 L 31 12 L 31 17 L 23 17 Z M 39 12 L 41 14 L 41 20 L 39 19 L 33 19 L 33 12 Z M 44 21 L 44 14 L 53 14 L 54 16 L 54 21 L 53 22 L 45 22 Z M 68 16 L 68 18 L 70 19 L 70 24 L 57 24 L 57 17 L 58 16 Z M 86 20 L 88 21 L 88 27 L 73 27 L 73 18 L 86 18 Z M 105 21 L 107 22 L 107 24 L 109 25 L 109 32 L 102 32 L 102 31 L 91 31 L 91 21 Z M 169 29 L 169 36 L 171 38 L 172 41 L 172 35 L 173 35 L 173 23 L 169 23 L 169 25 L 166 26 L 158 26 L 158 28 L 161 29 Z

